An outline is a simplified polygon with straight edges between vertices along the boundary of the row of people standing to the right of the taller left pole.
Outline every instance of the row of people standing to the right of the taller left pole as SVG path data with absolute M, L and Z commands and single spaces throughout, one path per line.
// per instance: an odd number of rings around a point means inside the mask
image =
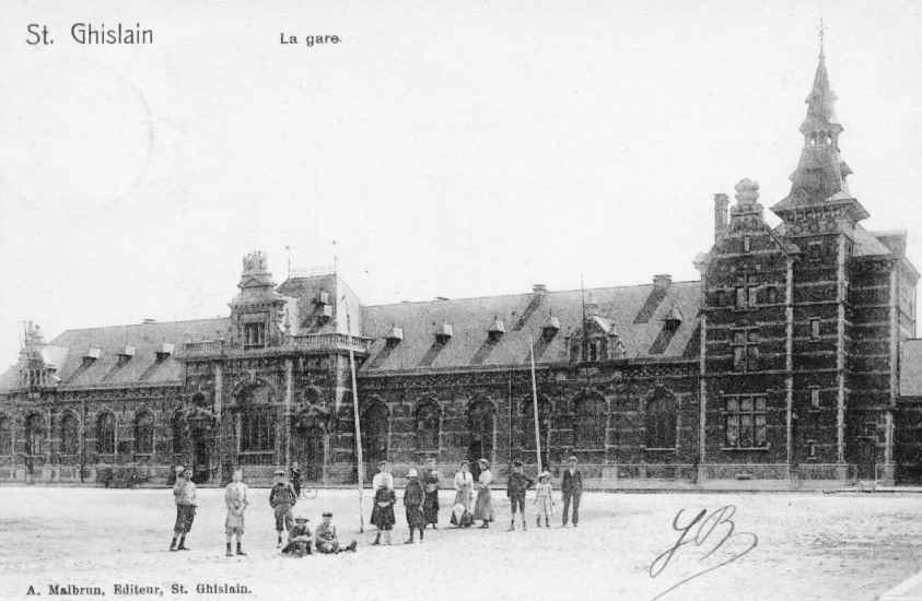
M 561 492 L 563 495 L 562 526 L 567 526 L 570 518 L 570 509 L 573 510 L 573 526 L 580 521 L 580 497 L 583 492 L 583 476 L 576 468 L 576 458 L 568 459 L 568 467 L 563 471 Z M 480 522 L 479 528 L 490 528 L 490 522 L 495 520 L 492 492 L 490 484 L 493 482 L 493 474 L 490 471 L 490 463 L 487 459 L 477 461 L 477 478 L 470 471 L 470 462 L 462 461 L 454 478 L 455 498 L 451 508 L 450 522 L 455 528 L 469 528 Z M 416 534 L 419 533 L 419 541 L 422 542 L 425 529 L 431 525 L 433 528 L 439 523 L 439 471 L 435 469 L 434 460 L 429 466 L 422 478 L 416 469 L 407 472 L 407 484 L 404 490 L 404 507 L 407 515 L 407 527 L 409 538 L 406 544 L 416 542 Z M 513 472 L 506 480 L 506 496 L 510 499 L 512 518 L 510 530 L 515 529 L 515 516 L 521 516 L 522 529 L 527 529 L 525 521 L 525 497 L 529 488 L 535 487 L 536 525 L 550 528 L 550 516 L 553 514 L 553 487 L 551 474 L 544 471 L 538 475 L 536 483 L 532 478 L 525 475 L 524 466 L 521 461 L 513 463 Z M 374 490 L 374 505 L 372 507 L 371 522 L 377 528 L 377 534 L 372 544 L 390 544 L 390 531 L 396 523 L 394 507 L 397 505 L 397 493 L 394 490 L 394 476 L 387 469 L 387 462 L 378 463 L 378 473 L 372 480 Z

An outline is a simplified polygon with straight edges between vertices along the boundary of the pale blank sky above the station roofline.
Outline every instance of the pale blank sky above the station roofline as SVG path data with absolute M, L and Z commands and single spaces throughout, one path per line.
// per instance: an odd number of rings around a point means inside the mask
M 369 304 L 697 279 L 714 192 L 787 193 L 820 14 L 865 225 L 922 266 L 919 2 L 94 4 L 0 19 L 0 366 L 24 319 L 226 315 L 255 248 L 339 240 Z

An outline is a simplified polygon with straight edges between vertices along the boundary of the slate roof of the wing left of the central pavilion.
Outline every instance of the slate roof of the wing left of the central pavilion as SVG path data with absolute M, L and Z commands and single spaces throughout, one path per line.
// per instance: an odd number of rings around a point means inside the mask
M 91 386 L 119 384 L 162 384 L 182 379 L 182 364 L 172 355 L 157 361 L 156 353 L 164 342 L 173 343 L 174 351 L 187 340 L 213 340 L 223 335 L 226 318 L 196 319 L 190 321 L 155 321 L 131 326 L 108 326 L 67 330 L 48 343 L 55 350 L 59 386 Z M 119 352 L 129 344 L 135 355 L 118 365 Z M 87 367 L 83 356 L 91 347 L 102 351 L 100 358 Z M 0 392 L 17 382 L 16 367 L 0 376 Z

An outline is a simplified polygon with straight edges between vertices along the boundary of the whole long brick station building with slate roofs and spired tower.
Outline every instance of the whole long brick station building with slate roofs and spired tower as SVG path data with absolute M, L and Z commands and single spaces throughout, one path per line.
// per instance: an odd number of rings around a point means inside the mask
M 697 282 L 363 306 L 336 273 L 279 286 L 244 259 L 227 319 L 26 331 L 0 386 L 0 481 L 163 483 L 176 464 L 265 482 L 487 458 L 612 487 L 800 487 L 922 476 L 922 387 L 900 369 L 918 272 L 903 233 L 865 229 L 839 156 L 825 59 L 791 195 L 714 200 Z M 914 347 L 913 347 L 914 349 Z M 907 358 L 909 357 L 909 358 Z M 534 375 L 530 367 L 534 360 Z M 902 365 L 901 365 L 902 364 Z M 533 386 L 534 377 L 534 386 Z

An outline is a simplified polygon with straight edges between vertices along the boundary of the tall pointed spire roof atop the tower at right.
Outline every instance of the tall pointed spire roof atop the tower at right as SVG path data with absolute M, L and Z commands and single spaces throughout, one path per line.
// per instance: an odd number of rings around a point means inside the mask
M 807 114 L 801 123 L 804 135 L 801 160 L 791 174 L 791 192 L 772 207 L 772 211 L 785 219 L 797 208 L 843 203 L 848 205 L 851 217 L 860 221 L 867 217 L 867 211 L 849 191 L 847 178 L 852 169 L 840 155 L 839 134 L 844 128 L 836 116 L 836 94 L 826 69 L 821 27 L 819 40 L 819 62 L 813 89 L 805 101 Z

